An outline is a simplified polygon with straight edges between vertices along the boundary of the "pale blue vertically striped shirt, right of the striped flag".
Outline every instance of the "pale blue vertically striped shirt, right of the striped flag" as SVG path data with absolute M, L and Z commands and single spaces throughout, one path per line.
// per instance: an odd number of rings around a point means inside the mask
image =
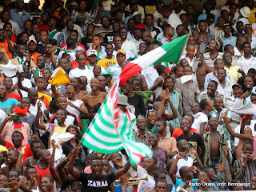
M 176 90 L 170 94 L 170 101 L 173 103 L 175 109 L 178 111 L 178 118 L 174 118 L 170 123 L 174 126 L 174 129 L 178 129 L 179 124 L 182 120 L 182 94 L 178 93 Z M 172 114 L 170 105 L 168 104 L 167 111 L 169 114 Z

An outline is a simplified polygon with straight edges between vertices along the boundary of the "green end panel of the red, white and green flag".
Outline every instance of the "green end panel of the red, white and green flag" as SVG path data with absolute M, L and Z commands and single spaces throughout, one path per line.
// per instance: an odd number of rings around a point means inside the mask
M 174 62 L 178 64 L 183 49 L 185 49 L 189 34 L 186 34 L 180 38 L 176 38 L 174 41 L 168 42 L 166 45 L 161 46 L 162 49 L 166 50 L 166 54 L 159 58 L 154 64 L 161 62 Z

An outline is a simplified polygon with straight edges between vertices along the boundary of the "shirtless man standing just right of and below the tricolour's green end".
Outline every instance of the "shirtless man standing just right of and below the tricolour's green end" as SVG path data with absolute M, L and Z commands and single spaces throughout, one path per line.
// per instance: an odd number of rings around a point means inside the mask
M 203 54 L 199 54 L 198 69 L 196 70 L 199 90 L 204 90 L 206 74 L 212 72 L 210 66 L 204 62 Z

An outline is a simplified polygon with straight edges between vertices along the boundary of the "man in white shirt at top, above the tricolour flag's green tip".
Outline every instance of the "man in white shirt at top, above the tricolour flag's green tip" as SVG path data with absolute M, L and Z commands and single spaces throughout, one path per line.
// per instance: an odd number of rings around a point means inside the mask
M 181 19 L 178 17 L 177 14 L 172 13 L 170 6 L 164 5 L 164 6 L 162 6 L 162 10 L 164 10 L 162 15 L 163 15 L 163 17 L 168 18 L 167 23 L 170 24 L 170 26 L 172 26 L 172 27 L 174 27 L 174 29 L 176 29 L 176 27 L 178 25 L 182 25 Z

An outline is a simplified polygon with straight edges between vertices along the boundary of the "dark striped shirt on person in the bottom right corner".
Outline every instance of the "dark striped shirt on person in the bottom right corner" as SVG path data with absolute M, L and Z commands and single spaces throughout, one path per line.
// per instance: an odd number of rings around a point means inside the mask
M 234 178 L 242 183 L 250 183 L 251 178 L 256 174 L 256 160 L 248 160 L 246 166 L 242 166 L 242 158 L 234 161 Z

